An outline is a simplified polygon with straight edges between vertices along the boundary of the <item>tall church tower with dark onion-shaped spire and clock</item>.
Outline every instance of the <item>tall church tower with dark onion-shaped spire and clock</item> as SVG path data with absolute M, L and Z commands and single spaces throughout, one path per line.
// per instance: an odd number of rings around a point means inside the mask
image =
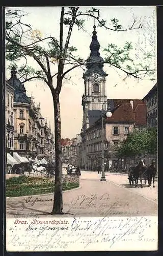
M 93 26 L 90 56 L 87 59 L 87 71 L 83 74 L 85 80 L 85 94 L 82 97 L 83 105 L 83 131 L 101 116 L 102 104 L 106 101 L 105 78 L 103 71 L 103 58 L 100 56 L 100 44 L 97 40 L 96 26 Z M 105 106 L 104 106 L 105 109 Z

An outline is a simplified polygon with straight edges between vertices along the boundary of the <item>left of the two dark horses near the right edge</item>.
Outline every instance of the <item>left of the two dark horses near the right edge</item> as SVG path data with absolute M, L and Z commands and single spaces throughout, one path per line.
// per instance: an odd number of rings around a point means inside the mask
M 138 165 L 133 168 L 133 178 L 135 181 L 135 187 L 138 186 L 139 178 L 140 178 L 140 182 L 141 182 L 141 188 L 143 187 L 142 186 L 142 178 L 143 178 L 145 172 L 146 172 L 146 165 L 144 164 L 144 161 L 141 159 L 139 161 Z

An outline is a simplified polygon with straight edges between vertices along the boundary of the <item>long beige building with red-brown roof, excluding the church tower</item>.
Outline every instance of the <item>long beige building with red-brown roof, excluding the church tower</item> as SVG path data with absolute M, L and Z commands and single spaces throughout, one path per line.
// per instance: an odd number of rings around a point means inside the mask
M 134 129 L 146 128 L 146 105 L 142 100 L 111 99 L 112 117 L 103 120 L 104 158 L 106 168 L 123 167 L 116 156 L 117 147 Z M 118 103 L 118 104 L 117 104 Z M 141 113 L 140 113 L 141 109 Z M 140 114 L 139 114 L 140 113 Z M 96 170 L 102 156 L 102 119 L 98 119 L 82 135 L 82 167 Z

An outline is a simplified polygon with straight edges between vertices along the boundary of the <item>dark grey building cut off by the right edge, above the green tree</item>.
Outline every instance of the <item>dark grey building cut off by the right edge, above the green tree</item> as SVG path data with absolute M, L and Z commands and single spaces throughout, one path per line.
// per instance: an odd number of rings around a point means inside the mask
M 143 98 L 147 106 L 147 125 L 157 127 L 157 84 Z

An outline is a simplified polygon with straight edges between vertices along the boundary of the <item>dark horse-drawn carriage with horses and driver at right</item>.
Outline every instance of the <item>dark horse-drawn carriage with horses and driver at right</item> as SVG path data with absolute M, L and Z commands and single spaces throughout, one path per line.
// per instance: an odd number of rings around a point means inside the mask
M 129 173 L 128 173 L 128 180 L 129 184 L 133 185 L 135 182 L 135 187 L 138 186 L 138 181 L 140 180 L 141 182 L 141 187 L 142 186 L 142 181 L 144 180 L 144 183 L 146 185 L 147 180 L 148 180 L 148 186 L 151 186 L 152 178 L 153 178 L 153 187 L 154 187 L 154 179 L 156 175 L 156 168 L 155 168 L 155 162 L 152 160 L 150 166 L 146 166 L 144 164 L 144 161 L 141 159 L 137 165 L 135 166 L 130 166 L 129 167 Z

